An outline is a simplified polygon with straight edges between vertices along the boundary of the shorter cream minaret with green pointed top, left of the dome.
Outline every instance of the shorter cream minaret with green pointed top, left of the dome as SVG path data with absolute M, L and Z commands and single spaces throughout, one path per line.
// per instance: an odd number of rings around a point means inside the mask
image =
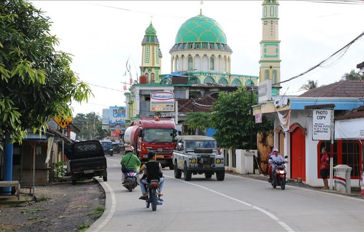
M 152 21 L 145 31 L 142 47 L 142 66 L 140 69 L 141 75 L 147 77 L 148 83 L 142 83 L 142 81 L 140 81 L 140 84 L 159 84 L 159 74 L 162 66 L 162 52 L 159 48 L 157 32 L 153 27 Z

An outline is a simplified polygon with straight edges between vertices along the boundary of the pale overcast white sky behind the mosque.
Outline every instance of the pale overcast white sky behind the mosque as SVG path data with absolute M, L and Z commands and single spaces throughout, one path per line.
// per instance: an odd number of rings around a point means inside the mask
M 163 54 L 162 74 L 169 74 L 169 50 L 178 28 L 202 14 L 218 22 L 233 50 L 231 73 L 259 76 L 263 1 L 30 1 L 51 18 L 56 50 L 72 54 L 71 69 L 92 89 L 88 103 L 72 103 L 77 113 L 125 106 L 123 82 L 129 59 L 133 80 L 139 78 L 142 40 L 152 21 Z M 302 74 L 345 47 L 364 31 L 364 2 L 279 1 L 281 81 Z M 364 61 L 363 38 L 346 52 L 309 73 L 281 84 L 281 94 L 300 95 L 308 80 L 319 86 L 340 80 Z M 130 85 L 126 85 L 129 87 Z

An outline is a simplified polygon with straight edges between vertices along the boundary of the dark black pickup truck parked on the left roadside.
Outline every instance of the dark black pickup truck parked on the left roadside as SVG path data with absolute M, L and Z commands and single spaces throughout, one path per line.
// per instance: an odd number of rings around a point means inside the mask
M 107 161 L 99 140 L 76 142 L 66 150 L 72 185 L 93 177 L 102 177 L 103 181 L 107 181 Z

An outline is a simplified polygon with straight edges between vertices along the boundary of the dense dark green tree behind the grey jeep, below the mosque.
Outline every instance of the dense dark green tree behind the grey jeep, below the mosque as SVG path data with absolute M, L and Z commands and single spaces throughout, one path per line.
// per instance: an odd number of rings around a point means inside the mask
M 263 116 L 262 123 L 255 124 L 251 118 L 251 106 L 257 104 L 257 99 L 251 100 L 251 92 L 245 87 L 229 93 L 221 91 L 218 100 L 213 103 L 211 113 L 211 126 L 216 129 L 214 138 L 221 147 L 233 149 L 246 149 L 250 145 L 250 138 L 262 131 L 273 129 L 272 121 Z M 253 135 L 250 133 L 250 126 Z M 252 147 L 256 147 L 256 139 Z

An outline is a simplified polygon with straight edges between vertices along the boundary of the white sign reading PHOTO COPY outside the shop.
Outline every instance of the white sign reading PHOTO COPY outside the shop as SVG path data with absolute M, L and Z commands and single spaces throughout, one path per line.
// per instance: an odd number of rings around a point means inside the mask
M 313 109 L 312 140 L 331 140 L 331 109 Z

